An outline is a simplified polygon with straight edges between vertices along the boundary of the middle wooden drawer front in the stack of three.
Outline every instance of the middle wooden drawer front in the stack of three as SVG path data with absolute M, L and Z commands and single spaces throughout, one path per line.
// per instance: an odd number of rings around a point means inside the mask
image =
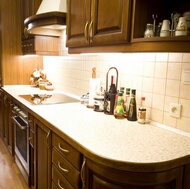
M 81 185 L 80 172 L 78 172 L 65 158 L 54 148 L 52 150 L 52 162 L 59 172 L 75 187 Z

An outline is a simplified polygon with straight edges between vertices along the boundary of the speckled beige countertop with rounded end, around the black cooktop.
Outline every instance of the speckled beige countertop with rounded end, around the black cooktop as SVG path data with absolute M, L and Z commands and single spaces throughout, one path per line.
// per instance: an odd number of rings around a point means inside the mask
M 188 133 L 184 136 L 152 124 L 117 120 L 80 103 L 31 105 L 18 95 L 46 91 L 30 86 L 5 86 L 3 89 L 82 147 L 103 158 L 159 163 L 190 155 Z

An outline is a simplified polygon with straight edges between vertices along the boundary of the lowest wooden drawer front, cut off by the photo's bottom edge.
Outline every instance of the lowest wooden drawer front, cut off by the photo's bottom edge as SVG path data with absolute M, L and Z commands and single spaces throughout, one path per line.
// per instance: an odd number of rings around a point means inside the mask
M 52 166 L 52 180 L 52 189 L 74 189 L 54 166 Z

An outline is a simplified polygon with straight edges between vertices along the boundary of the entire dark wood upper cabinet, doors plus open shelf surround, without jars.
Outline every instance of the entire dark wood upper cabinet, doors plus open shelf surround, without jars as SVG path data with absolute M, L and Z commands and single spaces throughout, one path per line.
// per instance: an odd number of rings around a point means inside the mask
M 190 52 L 190 36 L 144 38 L 153 14 L 157 25 L 189 9 L 188 0 L 68 0 L 69 53 Z

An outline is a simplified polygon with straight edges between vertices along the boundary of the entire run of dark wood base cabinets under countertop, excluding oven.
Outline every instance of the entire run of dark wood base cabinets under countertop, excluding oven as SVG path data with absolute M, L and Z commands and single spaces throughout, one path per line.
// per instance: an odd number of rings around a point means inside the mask
M 11 102 L 1 96 L 8 147 Z M 190 156 L 154 164 L 119 162 L 92 153 L 32 111 L 29 120 L 32 189 L 190 189 Z

